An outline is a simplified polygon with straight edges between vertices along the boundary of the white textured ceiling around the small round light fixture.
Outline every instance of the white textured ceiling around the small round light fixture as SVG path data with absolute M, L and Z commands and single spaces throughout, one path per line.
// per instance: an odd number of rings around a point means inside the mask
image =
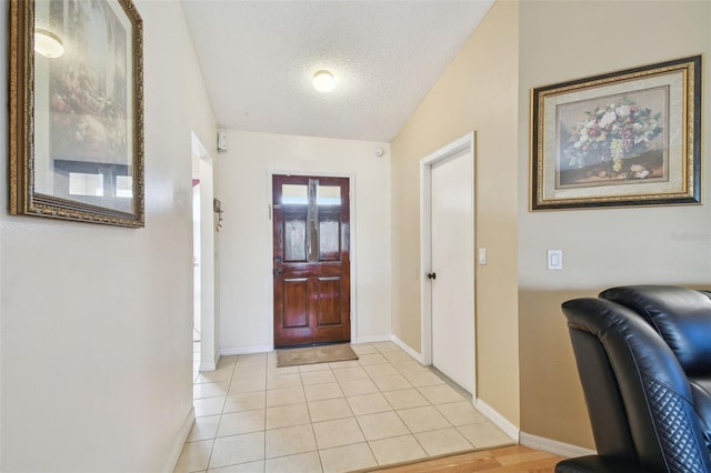
M 218 125 L 390 142 L 494 0 L 182 0 Z M 313 73 L 337 88 L 317 92 Z

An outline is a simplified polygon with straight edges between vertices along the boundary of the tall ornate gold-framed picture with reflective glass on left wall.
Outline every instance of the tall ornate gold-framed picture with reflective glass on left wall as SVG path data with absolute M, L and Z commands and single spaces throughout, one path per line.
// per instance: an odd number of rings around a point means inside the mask
M 144 227 L 142 51 L 131 0 L 10 1 L 11 214 Z

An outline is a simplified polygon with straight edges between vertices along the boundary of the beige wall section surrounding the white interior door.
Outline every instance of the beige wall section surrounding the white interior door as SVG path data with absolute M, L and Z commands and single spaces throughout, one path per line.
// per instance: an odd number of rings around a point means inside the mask
M 474 130 L 478 397 L 519 423 L 518 16 L 498 2 L 392 143 L 392 332 L 420 351 L 419 161 Z

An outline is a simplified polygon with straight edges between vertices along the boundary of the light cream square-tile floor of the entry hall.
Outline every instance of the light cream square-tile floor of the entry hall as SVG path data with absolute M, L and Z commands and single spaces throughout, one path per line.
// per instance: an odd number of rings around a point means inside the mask
M 347 472 L 513 443 L 394 343 L 352 348 L 358 361 L 277 368 L 269 352 L 196 371 L 176 472 Z

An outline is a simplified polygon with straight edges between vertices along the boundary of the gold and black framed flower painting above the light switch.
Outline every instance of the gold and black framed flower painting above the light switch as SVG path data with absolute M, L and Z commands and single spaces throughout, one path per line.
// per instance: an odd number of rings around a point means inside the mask
M 531 91 L 530 209 L 701 202 L 701 56 Z

